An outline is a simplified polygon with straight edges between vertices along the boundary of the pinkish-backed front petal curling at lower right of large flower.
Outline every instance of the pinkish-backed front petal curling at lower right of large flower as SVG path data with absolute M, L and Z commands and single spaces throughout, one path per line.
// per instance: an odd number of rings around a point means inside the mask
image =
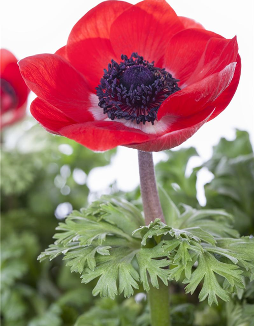
M 170 131 L 156 139 L 138 145 L 132 144 L 127 147 L 136 148 L 145 152 L 159 152 L 179 146 L 198 131 L 206 123 L 213 112 L 213 108 L 186 118 L 180 118 L 172 125 Z

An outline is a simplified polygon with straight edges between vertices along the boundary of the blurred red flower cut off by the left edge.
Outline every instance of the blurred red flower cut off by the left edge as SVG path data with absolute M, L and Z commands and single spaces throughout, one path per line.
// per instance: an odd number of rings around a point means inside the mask
M 22 119 L 29 89 L 20 74 L 15 56 L 0 49 L 0 128 Z

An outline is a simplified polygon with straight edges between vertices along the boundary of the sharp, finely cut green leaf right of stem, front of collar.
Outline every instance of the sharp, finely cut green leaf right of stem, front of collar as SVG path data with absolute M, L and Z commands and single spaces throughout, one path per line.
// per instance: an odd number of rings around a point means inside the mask
M 212 211 L 209 211 L 209 214 L 211 215 Z M 211 305 L 218 304 L 217 297 L 229 301 L 230 293 L 236 292 L 237 288 L 244 288 L 243 276 L 253 279 L 254 239 L 220 238 L 217 233 L 225 233 L 227 228 L 208 233 L 207 230 L 204 231 L 205 227 L 202 229 L 193 226 L 197 216 L 203 215 L 204 221 L 207 220 L 213 229 L 213 224 L 215 226 L 218 222 L 212 219 L 212 215 L 211 219 L 208 219 L 209 214 L 207 211 L 202 213 L 194 210 L 193 215 L 188 216 L 192 227 L 184 229 L 169 227 L 157 219 L 149 226 L 135 231 L 135 234 L 143 235 L 143 243 L 149 238 L 163 237 L 162 249 L 171 265 L 169 279 L 179 281 L 184 277 L 182 283 L 187 284 L 186 293 L 191 294 L 201 285 L 200 301 L 208 297 L 208 304 Z M 215 216 L 217 214 L 218 211 L 215 211 Z M 186 220 L 186 212 L 182 216 L 179 219 Z M 223 285 L 219 283 L 219 276 L 224 278 Z

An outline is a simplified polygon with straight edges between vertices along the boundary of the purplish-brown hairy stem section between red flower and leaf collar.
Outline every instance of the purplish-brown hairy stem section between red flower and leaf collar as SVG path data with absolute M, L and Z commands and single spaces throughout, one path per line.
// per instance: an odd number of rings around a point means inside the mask
M 148 225 L 156 218 L 162 219 L 165 222 L 161 202 L 158 197 L 152 153 L 138 151 L 138 157 L 145 224 Z

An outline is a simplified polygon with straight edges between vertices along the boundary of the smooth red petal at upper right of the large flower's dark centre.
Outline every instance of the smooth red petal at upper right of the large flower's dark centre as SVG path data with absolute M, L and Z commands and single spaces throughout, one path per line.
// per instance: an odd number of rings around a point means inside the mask
M 180 80 L 179 86 L 192 76 L 197 68 L 207 42 L 212 37 L 221 37 L 210 31 L 187 29 L 177 33 L 170 40 L 163 66 L 174 78 Z

